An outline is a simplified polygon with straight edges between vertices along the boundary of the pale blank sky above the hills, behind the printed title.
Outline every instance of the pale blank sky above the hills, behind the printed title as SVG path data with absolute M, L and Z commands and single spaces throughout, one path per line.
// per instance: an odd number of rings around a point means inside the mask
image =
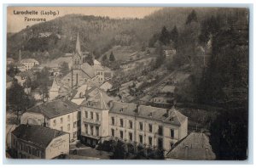
M 148 14 L 159 10 L 156 7 L 8 7 L 7 9 L 7 32 L 18 32 L 27 25 L 35 25 L 40 21 L 26 21 L 27 18 L 45 18 L 53 20 L 66 14 L 84 14 L 96 16 L 108 16 L 110 18 L 143 18 Z M 17 11 L 38 11 L 38 14 L 16 14 Z M 58 15 L 41 15 L 41 11 L 55 12 Z

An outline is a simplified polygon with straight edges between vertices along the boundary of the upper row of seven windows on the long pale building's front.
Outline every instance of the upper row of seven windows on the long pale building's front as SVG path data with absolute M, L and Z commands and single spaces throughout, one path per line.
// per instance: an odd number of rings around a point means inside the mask
M 111 124 L 114 126 L 114 117 L 111 117 Z M 119 119 L 120 127 L 124 127 L 124 119 Z M 132 129 L 133 123 L 132 120 L 129 120 L 129 128 Z M 139 129 L 143 131 L 143 122 L 139 122 Z M 148 124 L 148 132 L 153 132 L 153 126 L 152 124 Z M 163 135 L 163 126 L 158 126 L 158 134 L 160 136 Z M 170 137 L 174 137 L 174 130 L 170 130 Z

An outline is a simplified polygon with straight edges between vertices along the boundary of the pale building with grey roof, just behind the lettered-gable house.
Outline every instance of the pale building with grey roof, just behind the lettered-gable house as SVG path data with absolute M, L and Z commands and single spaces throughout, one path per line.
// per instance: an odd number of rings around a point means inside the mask
M 45 104 L 39 104 L 27 109 L 21 115 L 21 124 L 47 126 L 49 128 L 68 132 L 70 142 L 78 139 L 80 114 L 79 106 L 66 99 L 59 99 Z

